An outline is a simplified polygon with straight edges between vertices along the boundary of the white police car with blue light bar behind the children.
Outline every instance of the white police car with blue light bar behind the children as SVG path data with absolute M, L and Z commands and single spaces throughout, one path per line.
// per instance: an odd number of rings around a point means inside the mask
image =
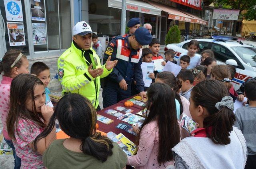
M 232 79 L 235 90 L 251 77 L 256 77 L 256 47 L 242 42 L 229 41 L 224 39 L 196 39 L 200 43 L 200 49 L 196 55 L 200 55 L 206 49 L 214 52 L 218 64 L 228 64 L 236 67 L 236 75 Z M 191 40 L 181 43 L 168 44 L 167 49 L 175 51 L 175 60 L 178 60 L 181 53 L 188 50 L 188 43 Z

